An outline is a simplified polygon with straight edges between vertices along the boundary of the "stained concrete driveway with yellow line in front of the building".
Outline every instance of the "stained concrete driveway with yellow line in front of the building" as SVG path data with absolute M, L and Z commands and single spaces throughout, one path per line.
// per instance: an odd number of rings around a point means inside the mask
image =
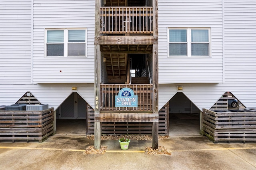
M 121 150 L 117 140 L 102 140 L 105 154 L 85 154 L 94 140 L 86 136 L 50 136 L 37 141 L 0 141 L 2 170 L 256 170 L 256 142 L 218 142 L 205 136 L 170 136 L 159 140 L 171 155 L 148 155 L 152 141 L 131 141 Z

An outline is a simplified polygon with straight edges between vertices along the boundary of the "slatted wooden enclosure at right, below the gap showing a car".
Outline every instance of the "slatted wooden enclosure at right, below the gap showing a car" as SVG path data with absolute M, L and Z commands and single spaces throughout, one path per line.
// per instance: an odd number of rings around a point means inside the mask
M 203 134 L 217 143 L 256 141 L 256 112 L 214 112 L 203 109 Z

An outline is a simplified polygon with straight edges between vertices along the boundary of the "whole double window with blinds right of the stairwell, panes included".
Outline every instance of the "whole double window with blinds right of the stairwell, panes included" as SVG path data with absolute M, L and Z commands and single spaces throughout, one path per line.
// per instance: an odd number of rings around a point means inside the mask
M 169 28 L 168 55 L 173 56 L 210 56 L 209 28 Z

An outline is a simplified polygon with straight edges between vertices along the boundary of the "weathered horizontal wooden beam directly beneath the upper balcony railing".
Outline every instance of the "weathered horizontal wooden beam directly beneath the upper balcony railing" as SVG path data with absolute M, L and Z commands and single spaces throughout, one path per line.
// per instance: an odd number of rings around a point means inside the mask
M 94 44 L 99 45 L 151 45 L 158 44 L 155 36 L 98 36 Z

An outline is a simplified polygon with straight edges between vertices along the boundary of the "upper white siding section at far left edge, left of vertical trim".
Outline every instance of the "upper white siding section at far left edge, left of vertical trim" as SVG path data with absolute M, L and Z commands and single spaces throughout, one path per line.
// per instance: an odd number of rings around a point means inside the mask
M 31 83 L 31 11 L 30 0 L 18 3 L 13 0 L 0 1 L 0 84 L 2 85 Z

